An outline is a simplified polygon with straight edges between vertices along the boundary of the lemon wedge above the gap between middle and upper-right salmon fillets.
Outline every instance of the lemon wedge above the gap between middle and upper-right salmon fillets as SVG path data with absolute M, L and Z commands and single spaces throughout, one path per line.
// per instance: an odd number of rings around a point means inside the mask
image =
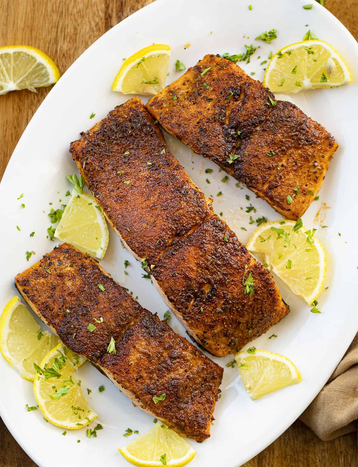
M 154 96 L 165 86 L 170 61 L 170 47 L 153 44 L 127 58 L 112 85 L 123 94 Z

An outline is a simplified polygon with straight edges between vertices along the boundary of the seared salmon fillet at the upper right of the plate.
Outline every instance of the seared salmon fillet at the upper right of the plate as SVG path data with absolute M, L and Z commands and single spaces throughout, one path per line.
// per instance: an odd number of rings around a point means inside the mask
M 338 147 L 322 125 L 219 55 L 206 55 L 146 107 L 287 219 L 306 212 Z

